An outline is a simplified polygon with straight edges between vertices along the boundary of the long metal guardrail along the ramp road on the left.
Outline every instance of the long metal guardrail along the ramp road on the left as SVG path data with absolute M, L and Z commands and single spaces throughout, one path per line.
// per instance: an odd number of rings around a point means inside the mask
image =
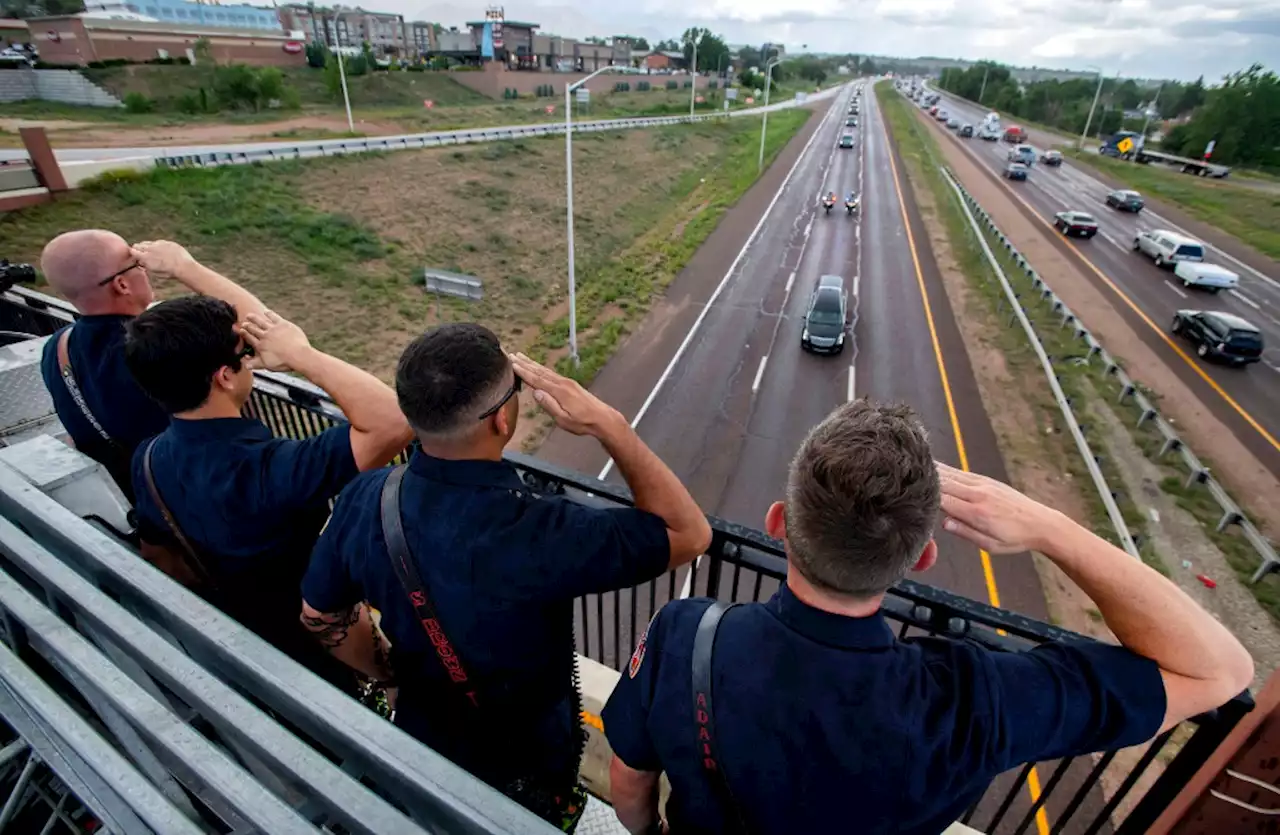
M 787 99 L 764 108 L 748 108 L 744 110 L 728 110 L 724 113 L 708 113 L 678 117 L 637 117 L 630 119 L 595 119 L 586 122 L 573 122 L 573 133 L 598 133 L 602 131 L 625 131 L 630 128 L 655 128 L 672 124 L 692 124 L 698 122 L 713 122 L 721 119 L 740 119 L 759 117 L 764 113 L 788 110 L 804 106 L 815 100 L 829 99 L 840 92 L 844 86 L 831 87 L 819 93 L 808 96 L 800 102 Z M 315 156 L 339 156 L 344 154 L 365 154 L 370 151 L 404 151 L 411 149 L 442 147 L 447 145 L 467 145 L 472 142 L 497 142 L 502 140 L 518 140 L 534 136 L 556 136 L 564 133 L 563 122 L 544 122 L 538 124 L 508 126 L 497 128 L 468 128 L 461 131 L 436 131 L 431 133 L 412 133 L 404 136 L 369 137 L 360 140 L 316 140 L 312 142 L 298 142 L 296 145 L 278 143 L 266 149 L 253 149 L 247 151 L 210 151 L 202 154 L 178 154 L 172 156 L 157 156 L 156 166 L 184 168 L 206 165 L 242 165 L 246 163 L 260 163 L 284 159 L 308 159 Z

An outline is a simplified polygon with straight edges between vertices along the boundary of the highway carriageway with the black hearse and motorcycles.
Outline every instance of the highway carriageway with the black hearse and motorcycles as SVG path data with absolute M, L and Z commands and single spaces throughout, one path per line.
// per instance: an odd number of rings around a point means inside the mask
M 644 333 L 632 337 L 593 384 L 632 419 L 707 512 L 753 528 L 782 497 L 787 466 L 809 429 L 852 397 L 911 403 L 938 458 L 1005 475 L 927 236 L 914 204 L 900 195 L 897 178 L 905 173 L 874 95 L 868 86 L 858 128 L 845 127 L 847 99 L 840 96 L 823 114 L 755 237 L 739 243 L 718 295 L 676 302 L 673 315 L 687 320 L 695 309 L 703 315 L 687 330 L 650 316 L 659 320 L 660 339 L 645 346 Z M 854 149 L 838 147 L 846 131 Z M 823 213 L 820 195 L 850 190 L 863 197 L 859 216 L 838 206 Z M 716 242 L 703 248 L 714 250 Z M 801 323 L 819 277 L 832 274 L 845 279 L 854 324 L 842 353 L 813 355 L 800 347 Z M 680 292 L 677 279 L 672 295 Z M 684 350 L 675 355 L 681 339 Z M 539 455 L 618 480 L 596 444 L 564 433 L 553 433 Z M 942 560 L 923 580 L 1047 616 L 1028 560 L 992 561 L 940 535 Z

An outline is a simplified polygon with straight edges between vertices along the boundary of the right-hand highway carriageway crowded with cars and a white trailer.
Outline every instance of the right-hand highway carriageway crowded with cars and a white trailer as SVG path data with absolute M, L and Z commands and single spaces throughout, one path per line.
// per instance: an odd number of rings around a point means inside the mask
M 977 126 L 982 120 L 984 113 L 973 102 L 946 93 L 941 96 L 940 108 L 963 123 Z M 961 140 L 950 131 L 942 132 L 947 138 L 941 141 L 966 149 L 988 170 L 998 174 L 1004 169 L 1010 145 Z M 1183 287 L 1172 272 L 1161 270 L 1133 251 L 1134 237 L 1143 229 L 1169 229 L 1197 237 L 1161 216 L 1158 210 L 1148 207 L 1135 215 L 1110 209 L 1106 195 L 1111 188 L 1070 161 L 1056 169 L 1037 163 L 1027 182 L 1001 179 L 1001 183 L 1007 193 L 1046 223 L 1052 223 L 1055 213 L 1068 209 L 1088 211 L 1097 218 L 1100 232 L 1096 238 L 1064 241 L 1061 246 L 1083 259 L 1085 274 L 1102 284 L 1103 292 L 1112 295 L 1116 309 L 1135 330 L 1161 356 L 1167 357 L 1169 366 L 1233 428 L 1234 434 L 1267 469 L 1280 474 L 1280 280 L 1272 278 L 1268 270 L 1260 269 L 1266 265 L 1245 264 L 1206 242 L 1206 260 L 1239 273 L 1239 288 L 1215 295 Z M 1263 334 L 1263 361 L 1235 369 L 1197 359 L 1189 343 L 1167 333 L 1174 312 L 1180 309 L 1228 311 L 1252 321 Z

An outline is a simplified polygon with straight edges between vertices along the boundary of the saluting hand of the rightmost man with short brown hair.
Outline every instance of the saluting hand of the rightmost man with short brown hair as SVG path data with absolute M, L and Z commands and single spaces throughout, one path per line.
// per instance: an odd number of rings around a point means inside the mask
M 991 553 L 1043 551 L 1064 516 L 996 479 L 938 464 L 942 529 Z

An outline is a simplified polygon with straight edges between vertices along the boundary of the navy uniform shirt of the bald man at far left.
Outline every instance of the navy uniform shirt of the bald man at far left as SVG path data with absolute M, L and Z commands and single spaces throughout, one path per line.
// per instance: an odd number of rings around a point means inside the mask
M 133 501 L 129 462 L 140 443 L 169 425 L 169 415 L 142 393 L 124 365 L 124 325 L 132 316 L 81 316 L 67 339 L 67 356 L 88 410 L 106 434 L 120 444 L 115 450 L 76 405 L 58 366 L 58 339 L 63 328 L 45 343 L 40 371 L 76 448 L 106 467 L 120 490 Z M 69 325 L 70 327 L 70 325 Z

